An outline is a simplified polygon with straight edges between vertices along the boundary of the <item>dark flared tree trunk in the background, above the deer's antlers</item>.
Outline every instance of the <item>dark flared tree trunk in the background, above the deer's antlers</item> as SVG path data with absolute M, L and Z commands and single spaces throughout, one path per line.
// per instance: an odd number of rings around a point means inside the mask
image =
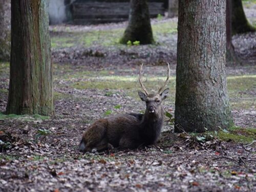
M 127 41 L 140 41 L 140 44 L 152 44 L 154 42 L 150 24 L 150 13 L 146 0 L 131 0 L 129 24 L 121 38 L 121 44 Z

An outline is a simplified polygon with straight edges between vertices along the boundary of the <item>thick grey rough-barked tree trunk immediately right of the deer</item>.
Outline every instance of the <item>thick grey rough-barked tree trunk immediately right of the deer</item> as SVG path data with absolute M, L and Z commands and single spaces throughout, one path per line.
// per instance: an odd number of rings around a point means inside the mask
M 179 1 L 175 130 L 232 124 L 226 86 L 226 0 Z

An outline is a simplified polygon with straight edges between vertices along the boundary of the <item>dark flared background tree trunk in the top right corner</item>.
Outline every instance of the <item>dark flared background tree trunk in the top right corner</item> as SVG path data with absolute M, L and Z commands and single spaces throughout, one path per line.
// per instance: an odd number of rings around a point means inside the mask
M 232 34 L 253 32 L 253 28 L 244 13 L 242 0 L 232 0 Z

